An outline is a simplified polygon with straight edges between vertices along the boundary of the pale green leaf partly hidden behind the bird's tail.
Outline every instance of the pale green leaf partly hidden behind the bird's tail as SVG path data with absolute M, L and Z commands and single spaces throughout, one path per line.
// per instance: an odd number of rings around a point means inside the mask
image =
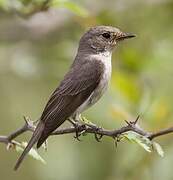
M 25 147 L 27 146 L 27 142 L 21 142 L 21 143 L 15 143 L 15 150 L 17 152 L 23 152 L 23 150 L 25 149 Z M 29 153 L 28 153 L 32 158 L 38 160 L 38 161 L 41 161 L 43 164 L 46 164 L 45 160 L 38 154 L 38 152 L 32 148 Z

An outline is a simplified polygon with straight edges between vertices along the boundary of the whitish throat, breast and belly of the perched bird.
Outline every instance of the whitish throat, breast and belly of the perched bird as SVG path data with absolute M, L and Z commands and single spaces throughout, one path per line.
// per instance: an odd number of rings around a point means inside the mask
M 97 88 L 93 91 L 89 98 L 77 109 L 77 111 L 75 112 L 76 114 L 80 114 L 81 112 L 95 104 L 107 90 L 112 72 L 111 56 L 112 54 L 108 52 L 104 54 L 100 53 L 97 55 L 92 55 L 92 59 L 98 59 L 104 64 L 103 75 Z

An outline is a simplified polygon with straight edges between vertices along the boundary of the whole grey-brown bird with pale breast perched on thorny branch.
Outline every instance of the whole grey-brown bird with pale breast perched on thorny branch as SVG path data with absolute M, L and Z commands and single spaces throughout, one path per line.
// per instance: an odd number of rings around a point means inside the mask
M 91 27 L 79 41 L 77 55 L 69 71 L 50 96 L 33 135 L 19 157 L 17 170 L 26 154 L 37 143 L 39 148 L 68 118 L 94 105 L 105 93 L 111 78 L 111 57 L 119 42 L 135 37 L 112 26 Z

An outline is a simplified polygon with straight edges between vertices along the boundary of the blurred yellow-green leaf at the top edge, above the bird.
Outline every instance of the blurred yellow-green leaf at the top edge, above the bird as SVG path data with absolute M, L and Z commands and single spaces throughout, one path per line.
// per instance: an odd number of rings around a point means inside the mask
M 50 7 L 63 7 L 81 17 L 87 17 L 89 14 L 86 9 L 71 1 L 53 0 Z

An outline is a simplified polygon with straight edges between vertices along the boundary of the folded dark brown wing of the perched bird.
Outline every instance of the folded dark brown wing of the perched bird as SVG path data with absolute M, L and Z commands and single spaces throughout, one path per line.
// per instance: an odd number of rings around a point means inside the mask
M 97 60 L 85 61 L 71 68 L 43 111 L 41 121 L 45 126 L 37 147 L 91 95 L 100 81 L 102 71 L 103 65 Z

